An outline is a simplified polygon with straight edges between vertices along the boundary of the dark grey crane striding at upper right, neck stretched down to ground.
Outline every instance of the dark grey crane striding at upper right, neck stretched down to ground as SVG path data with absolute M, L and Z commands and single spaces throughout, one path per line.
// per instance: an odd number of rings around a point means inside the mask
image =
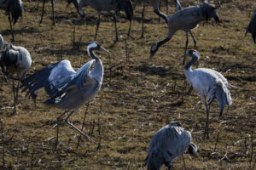
M 192 6 L 189 8 L 183 8 L 177 13 L 172 14 L 172 16 L 168 17 L 168 34 L 167 37 L 163 40 L 160 40 L 159 42 L 154 43 L 154 45 L 150 48 L 150 59 L 154 56 L 154 54 L 157 52 L 157 50 L 160 48 L 161 45 L 168 42 L 172 36 L 175 34 L 178 30 L 183 30 L 186 32 L 186 45 L 184 49 L 184 58 L 183 58 L 183 64 L 185 62 L 185 56 L 189 44 L 189 36 L 193 38 L 194 40 L 194 46 L 196 48 L 196 40 L 193 36 L 191 29 L 195 28 L 201 21 L 205 20 L 208 21 L 211 18 L 214 18 L 216 22 L 219 23 L 218 14 L 216 14 L 216 8 L 208 3 L 202 3 L 199 7 L 198 6 Z

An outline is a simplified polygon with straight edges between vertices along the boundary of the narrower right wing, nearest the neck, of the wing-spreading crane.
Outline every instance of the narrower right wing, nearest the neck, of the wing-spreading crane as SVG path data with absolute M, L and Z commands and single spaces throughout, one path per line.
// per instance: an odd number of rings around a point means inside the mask
M 89 62 L 87 62 L 85 65 L 83 65 L 79 69 L 79 71 L 77 71 L 76 74 L 74 74 L 70 78 L 70 80 L 65 85 L 63 85 L 61 89 L 57 91 L 57 93 L 55 93 L 51 97 L 57 98 L 62 94 L 64 94 L 68 89 L 74 88 L 75 86 L 78 87 L 79 89 L 83 88 L 84 84 L 90 80 L 89 79 L 90 77 L 88 77 L 88 75 L 90 73 L 90 67 L 94 63 L 94 61 L 95 59 L 92 59 Z

